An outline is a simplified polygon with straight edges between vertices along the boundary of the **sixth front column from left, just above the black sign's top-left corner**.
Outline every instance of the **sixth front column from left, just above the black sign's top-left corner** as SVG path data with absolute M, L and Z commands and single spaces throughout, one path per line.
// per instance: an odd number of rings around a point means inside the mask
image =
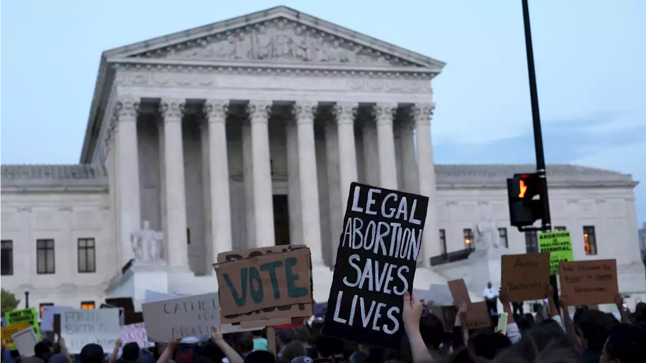
M 339 180 L 341 191 L 341 210 L 346 213 L 350 183 L 357 180 L 357 151 L 355 150 L 355 118 L 357 117 L 357 103 L 339 102 L 334 106 L 333 112 L 337 119 L 339 132 Z

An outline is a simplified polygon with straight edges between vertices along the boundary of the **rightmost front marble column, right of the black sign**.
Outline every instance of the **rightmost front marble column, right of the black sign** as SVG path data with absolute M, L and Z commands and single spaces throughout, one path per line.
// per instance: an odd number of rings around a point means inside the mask
M 428 196 L 428 212 L 424 225 L 424 261 L 430 267 L 430 258 L 441 254 L 439 229 L 437 227 L 437 189 L 435 187 L 435 164 L 431 139 L 431 116 L 435 105 L 416 104 L 413 111 L 415 136 L 417 137 L 417 165 L 419 169 L 419 194 Z

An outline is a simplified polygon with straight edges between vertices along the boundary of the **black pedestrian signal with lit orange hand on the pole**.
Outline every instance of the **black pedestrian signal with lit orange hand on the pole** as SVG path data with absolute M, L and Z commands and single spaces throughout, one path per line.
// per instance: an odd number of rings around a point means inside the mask
M 514 227 L 533 225 L 544 216 L 543 202 L 539 198 L 545 178 L 537 173 L 514 174 L 507 179 L 509 219 Z

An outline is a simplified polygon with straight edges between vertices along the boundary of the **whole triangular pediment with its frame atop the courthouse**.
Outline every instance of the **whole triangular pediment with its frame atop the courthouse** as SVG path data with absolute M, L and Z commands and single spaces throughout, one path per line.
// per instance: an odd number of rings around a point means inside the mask
M 278 6 L 110 50 L 129 57 L 211 62 L 309 63 L 441 71 L 444 63 Z

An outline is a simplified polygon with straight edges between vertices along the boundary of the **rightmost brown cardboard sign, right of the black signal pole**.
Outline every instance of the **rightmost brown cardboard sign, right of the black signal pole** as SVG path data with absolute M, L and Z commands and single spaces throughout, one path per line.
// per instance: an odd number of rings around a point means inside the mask
M 561 296 L 569 306 L 614 304 L 619 293 L 616 260 L 561 262 Z

